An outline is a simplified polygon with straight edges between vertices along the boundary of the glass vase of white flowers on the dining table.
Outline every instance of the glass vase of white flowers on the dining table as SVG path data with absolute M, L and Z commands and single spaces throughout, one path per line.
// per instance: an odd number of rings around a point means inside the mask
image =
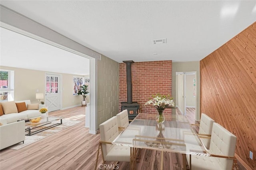
M 154 106 L 158 111 L 156 121 L 158 123 L 164 123 L 164 109 L 175 106 L 172 97 L 170 97 L 170 95 L 165 96 L 161 94 L 152 95 L 152 97 L 153 99 L 150 99 L 145 105 L 152 104 L 152 106 Z

